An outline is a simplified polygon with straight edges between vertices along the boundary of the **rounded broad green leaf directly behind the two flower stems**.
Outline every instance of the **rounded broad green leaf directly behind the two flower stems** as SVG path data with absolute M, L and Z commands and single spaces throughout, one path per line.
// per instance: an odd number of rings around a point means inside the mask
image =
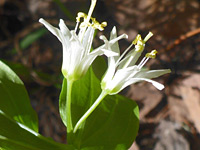
M 66 80 L 60 95 L 60 110 L 65 109 Z M 100 82 L 92 69 L 72 88 L 73 126 L 93 104 L 101 92 Z M 60 111 L 61 116 L 66 115 Z M 65 120 L 63 120 L 66 122 Z M 66 123 L 65 123 L 66 124 Z M 106 96 L 85 124 L 74 135 L 74 145 L 85 150 L 127 150 L 137 135 L 139 109 L 137 104 L 120 95 Z

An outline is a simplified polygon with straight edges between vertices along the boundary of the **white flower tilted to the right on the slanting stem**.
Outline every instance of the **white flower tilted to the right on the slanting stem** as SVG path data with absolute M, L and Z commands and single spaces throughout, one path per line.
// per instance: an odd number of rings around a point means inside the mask
M 136 62 L 145 47 L 145 42 L 152 35 L 153 34 L 150 32 L 144 40 L 142 40 L 141 36 L 138 35 L 121 56 L 112 56 L 108 58 L 108 69 L 101 81 L 102 90 L 106 91 L 110 95 L 113 95 L 117 94 L 130 84 L 140 81 L 150 82 L 159 90 L 162 90 L 164 88 L 164 85 L 151 80 L 151 78 L 156 78 L 163 74 L 170 73 L 170 69 L 143 69 L 143 66 L 149 58 L 156 57 L 156 50 L 153 50 L 151 53 L 147 53 L 142 61 L 138 65 L 136 65 Z M 114 39 L 116 36 L 116 28 L 114 27 L 110 35 L 110 40 Z M 118 42 L 110 45 L 108 40 L 104 36 L 102 36 L 101 38 L 104 40 L 107 49 L 120 53 Z M 133 45 L 135 45 L 135 47 L 130 50 Z

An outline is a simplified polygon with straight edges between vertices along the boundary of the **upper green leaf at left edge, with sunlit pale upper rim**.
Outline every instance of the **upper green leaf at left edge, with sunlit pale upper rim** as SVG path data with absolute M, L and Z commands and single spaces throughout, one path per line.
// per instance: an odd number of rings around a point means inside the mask
M 38 120 L 23 82 L 0 61 L 0 110 L 38 132 Z M 1 125 L 1 124 L 0 124 Z

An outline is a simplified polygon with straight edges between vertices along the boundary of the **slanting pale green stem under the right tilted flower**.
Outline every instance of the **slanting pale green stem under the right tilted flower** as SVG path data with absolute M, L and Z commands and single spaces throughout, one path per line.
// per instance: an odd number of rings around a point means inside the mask
M 108 95 L 107 92 L 102 91 L 97 100 L 94 102 L 94 104 L 87 110 L 87 112 L 79 119 L 77 124 L 75 125 L 74 128 L 74 133 L 79 129 L 81 124 L 89 117 L 89 115 L 95 110 L 95 108 L 100 104 L 100 102 L 104 99 L 104 97 Z

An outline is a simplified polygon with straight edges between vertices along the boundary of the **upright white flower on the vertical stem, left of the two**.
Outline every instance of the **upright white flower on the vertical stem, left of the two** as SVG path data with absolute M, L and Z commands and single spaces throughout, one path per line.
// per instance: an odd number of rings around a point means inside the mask
M 92 0 L 88 15 L 81 12 L 78 13 L 75 30 L 70 31 L 62 19 L 59 23 L 60 29 L 53 27 L 42 18 L 39 20 L 62 43 L 62 73 L 69 80 L 75 81 L 81 78 L 97 56 L 103 54 L 108 57 L 117 55 L 117 53 L 106 50 L 105 45 L 90 52 L 95 29 L 103 30 L 106 26 L 106 22 L 100 24 L 95 18 L 91 17 L 95 4 L 96 0 Z M 81 18 L 84 21 L 80 24 L 79 33 L 76 34 Z M 113 39 L 109 43 L 112 45 L 123 36 Z

